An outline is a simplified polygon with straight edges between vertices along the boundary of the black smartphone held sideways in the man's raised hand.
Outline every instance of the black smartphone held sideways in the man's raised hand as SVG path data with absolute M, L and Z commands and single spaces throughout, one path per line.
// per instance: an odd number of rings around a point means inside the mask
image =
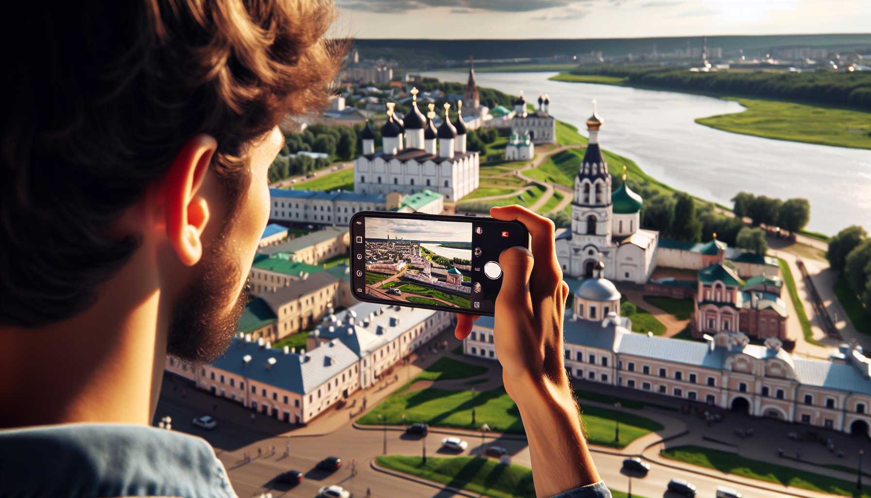
M 361 211 L 351 218 L 351 290 L 360 301 L 493 316 L 499 255 L 530 247 L 521 222 Z

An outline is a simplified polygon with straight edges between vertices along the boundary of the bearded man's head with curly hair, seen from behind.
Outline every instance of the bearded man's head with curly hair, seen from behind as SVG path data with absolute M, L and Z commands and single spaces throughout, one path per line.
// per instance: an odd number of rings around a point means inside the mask
M 0 326 L 76 317 L 153 263 L 131 287 L 172 304 L 169 352 L 215 358 L 267 222 L 277 125 L 326 105 L 348 48 L 322 38 L 332 2 L 32 9 L 15 17 L 26 34 L 3 27 L 17 49 L 0 113 Z

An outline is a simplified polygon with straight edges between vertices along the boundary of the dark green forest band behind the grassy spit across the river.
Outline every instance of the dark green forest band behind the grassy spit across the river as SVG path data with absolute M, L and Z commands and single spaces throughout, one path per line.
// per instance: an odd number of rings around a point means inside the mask
M 868 72 L 689 72 L 641 65 L 593 66 L 572 73 L 625 77 L 632 85 L 755 95 L 871 110 L 871 73 Z

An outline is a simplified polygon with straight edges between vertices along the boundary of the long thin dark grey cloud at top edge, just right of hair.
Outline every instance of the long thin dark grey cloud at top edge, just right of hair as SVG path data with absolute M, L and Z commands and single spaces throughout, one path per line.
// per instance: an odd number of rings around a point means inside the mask
M 369 12 L 402 13 L 408 10 L 430 7 L 455 7 L 463 10 L 489 10 L 493 12 L 530 12 L 553 7 L 565 7 L 572 0 L 349 0 L 339 3 L 341 9 L 366 10 Z

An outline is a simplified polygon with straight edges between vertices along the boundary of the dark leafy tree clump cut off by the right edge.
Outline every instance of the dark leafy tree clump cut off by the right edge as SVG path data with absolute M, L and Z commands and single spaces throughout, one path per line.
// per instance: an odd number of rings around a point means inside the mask
M 838 232 L 828 242 L 826 257 L 832 269 L 842 272 L 866 310 L 871 310 L 871 238 L 865 229 L 852 226 Z

